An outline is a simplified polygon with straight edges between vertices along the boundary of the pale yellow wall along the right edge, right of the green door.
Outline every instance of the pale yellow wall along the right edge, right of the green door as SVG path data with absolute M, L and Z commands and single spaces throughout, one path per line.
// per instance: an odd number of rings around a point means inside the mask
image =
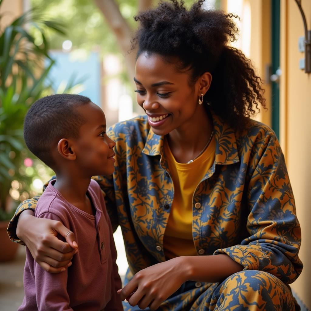
M 302 0 L 311 29 L 311 1 Z M 302 229 L 299 253 L 304 270 L 292 285 L 304 304 L 311 309 L 311 74 L 299 69 L 298 38 L 304 35 L 302 18 L 294 0 L 281 0 L 281 133 L 286 163 L 294 191 Z

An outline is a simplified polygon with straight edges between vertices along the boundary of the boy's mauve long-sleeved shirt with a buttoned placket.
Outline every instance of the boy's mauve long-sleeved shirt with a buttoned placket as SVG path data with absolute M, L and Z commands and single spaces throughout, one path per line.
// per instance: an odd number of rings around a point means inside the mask
M 40 197 L 35 216 L 61 221 L 74 232 L 79 252 L 65 272 L 42 269 L 26 248 L 25 298 L 21 310 L 123 310 L 117 290 L 121 288 L 112 227 L 99 185 L 91 180 L 88 193 L 95 216 L 70 204 L 51 181 Z

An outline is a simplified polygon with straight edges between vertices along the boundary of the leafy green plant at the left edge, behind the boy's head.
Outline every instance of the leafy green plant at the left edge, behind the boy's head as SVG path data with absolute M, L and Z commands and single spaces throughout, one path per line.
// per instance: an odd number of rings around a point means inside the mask
M 31 27 L 39 31 L 42 37 L 40 45 L 26 30 Z M 33 195 L 30 187 L 33 176 L 39 175 L 39 162 L 33 159 L 24 143 L 23 122 L 30 105 L 52 92 L 46 83 L 54 64 L 48 54 L 47 28 L 64 34 L 62 24 L 43 20 L 36 10 L 31 10 L 0 29 L 0 218 L 9 219 L 10 210 L 14 208 L 12 182 L 18 182 L 16 189 L 27 198 Z M 50 60 L 48 67 L 44 67 L 46 58 Z M 27 165 L 24 161 L 27 158 L 36 164 L 32 166 L 31 174 L 25 173 Z

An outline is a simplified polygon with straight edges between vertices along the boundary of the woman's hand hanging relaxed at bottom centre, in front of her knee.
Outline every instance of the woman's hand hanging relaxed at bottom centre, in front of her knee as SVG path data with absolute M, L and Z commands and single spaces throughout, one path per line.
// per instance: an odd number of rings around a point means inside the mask
M 140 309 L 148 306 L 151 310 L 159 308 L 163 301 L 187 281 L 181 258 L 160 262 L 137 272 L 122 290 L 118 290 L 121 299 L 127 299 L 131 306 L 138 304 Z

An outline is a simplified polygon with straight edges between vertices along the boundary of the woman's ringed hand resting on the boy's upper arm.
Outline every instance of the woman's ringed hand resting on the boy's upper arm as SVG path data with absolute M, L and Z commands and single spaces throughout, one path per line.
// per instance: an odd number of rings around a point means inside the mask
M 19 216 L 17 236 L 25 242 L 35 261 L 47 272 L 59 273 L 71 266 L 78 251 L 75 236 L 60 221 L 36 218 L 33 211 L 23 211 Z M 59 240 L 61 234 L 67 243 Z

